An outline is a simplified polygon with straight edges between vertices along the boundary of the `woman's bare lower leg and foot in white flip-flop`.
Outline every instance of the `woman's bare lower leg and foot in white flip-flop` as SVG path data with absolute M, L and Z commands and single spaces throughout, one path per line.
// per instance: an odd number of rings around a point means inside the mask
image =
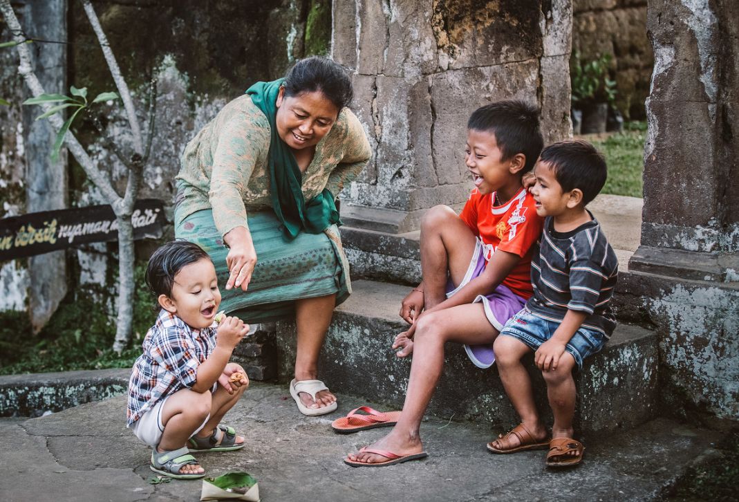
M 336 307 L 336 294 L 296 300 L 295 323 L 298 331 L 298 347 L 295 358 L 295 379 L 297 381 L 318 378 L 319 354 L 324 339 L 326 339 L 334 307 Z M 323 408 L 336 401 L 336 396 L 328 390 L 321 390 L 316 394 L 316 402 L 313 402 L 313 398 L 307 393 L 301 393 L 300 400 L 306 407 Z

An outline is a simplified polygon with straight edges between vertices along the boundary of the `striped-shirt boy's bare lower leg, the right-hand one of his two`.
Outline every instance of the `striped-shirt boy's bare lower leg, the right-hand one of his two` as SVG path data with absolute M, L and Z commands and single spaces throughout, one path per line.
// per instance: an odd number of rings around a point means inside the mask
M 549 405 L 554 413 L 554 427 L 552 438 L 572 438 L 574 430 L 572 420 L 575 415 L 576 389 L 572 370 L 575 367 L 575 358 L 569 352 L 559 358 L 556 370 L 542 371 L 547 382 L 547 396 Z M 577 452 L 569 455 L 577 456 Z

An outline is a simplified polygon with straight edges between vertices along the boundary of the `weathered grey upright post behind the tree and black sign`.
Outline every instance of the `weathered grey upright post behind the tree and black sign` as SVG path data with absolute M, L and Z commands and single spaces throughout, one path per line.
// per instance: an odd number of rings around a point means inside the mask
M 33 38 L 67 40 L 67 0 L 29 1 L 22 13 L 22 25 Z M 67 94 L 67 46 L 31 44 L 33 67 L 46 92 Z M 27 90 L 27 88 L 25 88 Z M 67 206 L 67 160 L 60 155 L 52 162 L 50 153 L 56 134 L 48 121 L 34 121 L 41 115 L 38 106 L 24 106 L 26 132 L 26 211 L 50 211 Z M 29 311 L 31 325 L 40 330 L 67 294 L 64 251 L 29 259 Z

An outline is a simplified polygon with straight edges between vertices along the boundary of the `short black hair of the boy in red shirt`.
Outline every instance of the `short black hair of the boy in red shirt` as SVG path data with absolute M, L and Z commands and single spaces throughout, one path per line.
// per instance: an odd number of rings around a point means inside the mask
M 521 175 L 534 169 L 544 147 L 539 109 L 517 99 L 480 106 L 472 112 L 467 129 L 493 133 L 503 154 L 500 160 L 508 160 L 519 153 L 525 155 L 526 163 L 519 173 Z

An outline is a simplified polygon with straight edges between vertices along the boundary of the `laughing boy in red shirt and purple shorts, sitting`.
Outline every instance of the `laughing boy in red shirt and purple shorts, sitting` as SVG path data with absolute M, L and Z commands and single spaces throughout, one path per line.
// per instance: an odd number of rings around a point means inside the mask
M 521 179 L 542 150 L 539 114 L 522 101 L 500 101 L 475 110 L 467 129 L 475 188 L 459 215 L 448 206 L 426 213 L 423 281 L 401 304 L 411 328 L 392 347 L 399 357 L 413 353 L 403 412 L 388 435 L 344 459 L 353 467 L 425 457 L 419 427 L 441 375 L 444 344 L 462 343 L 474 364 L 491 366 L 495 338 L 533 294 L 531 254 L 542 219 Z

